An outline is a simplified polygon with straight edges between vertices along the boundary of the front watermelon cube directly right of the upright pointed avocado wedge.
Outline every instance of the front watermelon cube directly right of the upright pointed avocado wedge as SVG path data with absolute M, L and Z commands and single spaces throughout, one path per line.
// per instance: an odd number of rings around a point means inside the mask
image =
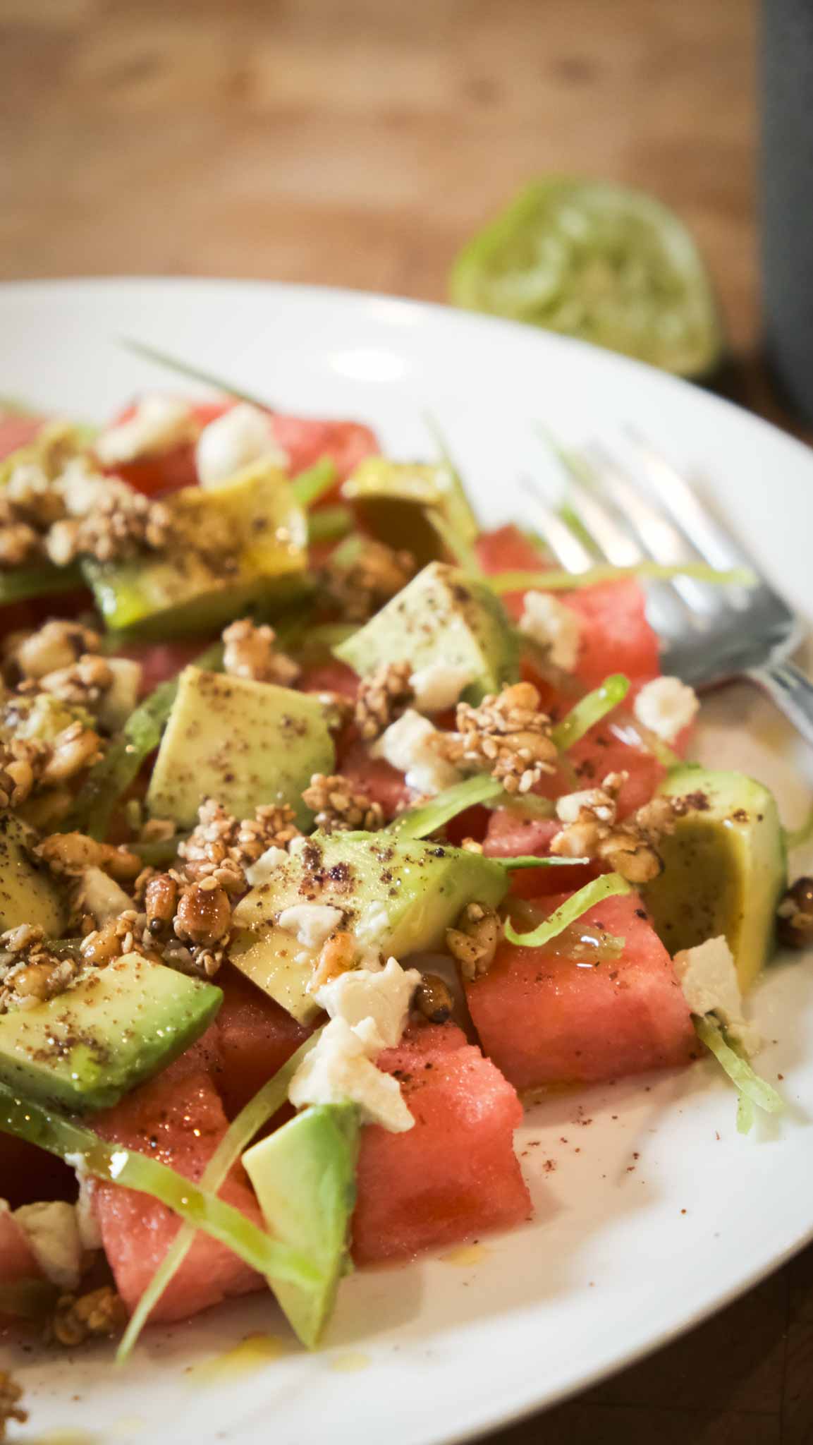
M 531 1205 L 514 1153 L 523 1108 L 491 1059 L 472 1046 L 401 1043 L 378 1065 L 401 1079 L 414 1127 L 362 1131 L 357 1263 L 407 1259 L 527 1220 Z

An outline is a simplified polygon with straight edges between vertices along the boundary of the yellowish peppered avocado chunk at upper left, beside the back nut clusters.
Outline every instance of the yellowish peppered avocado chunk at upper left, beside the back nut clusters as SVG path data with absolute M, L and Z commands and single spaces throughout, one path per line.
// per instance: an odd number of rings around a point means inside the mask
M 305 579 L 308 520 L 284 473 L 257 462 L 221 487 L 182 487 L 166 553 L 84 564 L 108 629 L 166 639 L 290 598 Z

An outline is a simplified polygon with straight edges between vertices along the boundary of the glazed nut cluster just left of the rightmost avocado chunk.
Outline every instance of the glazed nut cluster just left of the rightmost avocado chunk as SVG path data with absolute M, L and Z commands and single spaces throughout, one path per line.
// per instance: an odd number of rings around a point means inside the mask
M 674 827 L 674 806 L 669 798 L 653 798 L 618 822 L 617 799 L 625 780 L 627 773 L 608 773 L 601 788 L 559 798 L 556 814 L 565 827 L 550 851 L 559 858 L 599 858 L 628 883 L 650 883 L 663 868 L 657 844 Z

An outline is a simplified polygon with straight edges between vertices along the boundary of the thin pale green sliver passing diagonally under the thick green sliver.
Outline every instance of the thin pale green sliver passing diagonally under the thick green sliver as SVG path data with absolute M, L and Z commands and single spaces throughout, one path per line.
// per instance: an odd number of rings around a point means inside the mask
M 310 1038 L 299 1046 L 296 1053 L 292 1053 L 287 1064 L 283 1064 L 282 1069 L 277 1069 L 274 1077 L 270 1078 L 267 1084 L 263 1084 L 263 1088 L 254 1094 L 254 1098 L 251 1098 L 248 1104 L 240 1110 L 237 1117 L 232 1118 L 212 1157 L 204 1169 L 204 1173 L 201 1175 L 201 1189 L 211 1189 L 211 1192 L 217 1195 L 221 1185 L 228 1178 L 232 1166 L 248 1147 L 254 1136 L 258 1134 L 264 1124 L 267 1124 L 269 1118 L 273 1118 L 277 1110 L 284 1104 L 290 1081 L 305 1055 L 309 1053 L 316 1043 L 321 1032 L 322 1030 L 318 1029 L 316 1033 L 312 1033 Z M 117 1364 L 123 1364 L 130 1355 L 142 1329 L 144 1328 L 165 1289 L 168 1289 L 173 1276 L 181 1269 L 194 1241 L 195 1225 L 185 1224 L 175 1235 L 163 1260 L 156 1269 L 150 1283 L 130 1316 L 130 1322 L 116 1353 Z

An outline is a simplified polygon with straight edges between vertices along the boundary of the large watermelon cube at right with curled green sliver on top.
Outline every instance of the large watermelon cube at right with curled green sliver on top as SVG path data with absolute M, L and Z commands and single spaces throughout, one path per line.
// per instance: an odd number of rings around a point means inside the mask
M 607 899 L 583 923 L 624 938 L 621 957 L 591 967 L 504 942 L 488 974 L 466 985 L 482 1048 L 518 1090 L 594 1084 L 696 1056 L 671 959 L 638 896 Z

